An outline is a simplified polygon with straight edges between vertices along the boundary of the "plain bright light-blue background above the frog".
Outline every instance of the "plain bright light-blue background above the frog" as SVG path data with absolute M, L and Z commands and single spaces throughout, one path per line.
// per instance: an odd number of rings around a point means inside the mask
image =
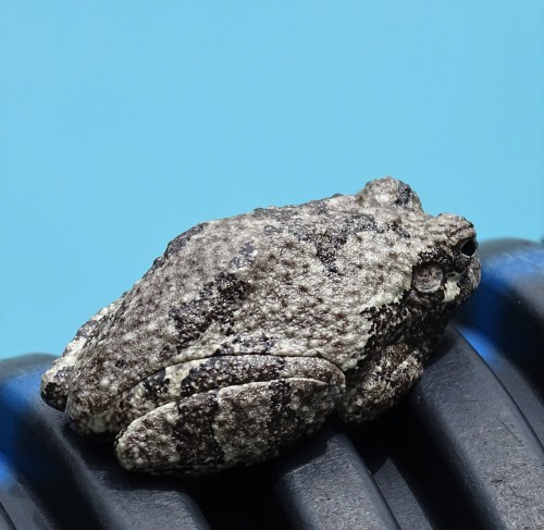
M 197 222 L 376 176 L 544 234 L 541 1 L 0 10 L 0 357 L 60 354 Z

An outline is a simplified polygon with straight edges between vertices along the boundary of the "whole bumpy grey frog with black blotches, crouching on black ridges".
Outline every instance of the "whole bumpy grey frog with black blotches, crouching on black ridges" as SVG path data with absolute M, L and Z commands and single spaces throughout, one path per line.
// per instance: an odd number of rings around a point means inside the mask
M 114 437 L 127 469 L 271 458 L 333 412 L 367 421 L 406 394 L 478 286 L 474 237 L 390 177 L 199 224 L 82 326 L 42 398 Z

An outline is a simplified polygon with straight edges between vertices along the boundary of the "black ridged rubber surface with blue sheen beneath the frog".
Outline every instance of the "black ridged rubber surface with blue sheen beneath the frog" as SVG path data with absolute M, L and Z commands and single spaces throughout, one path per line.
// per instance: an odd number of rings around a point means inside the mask
M 481 287 L 399 407 L 244 470 L 129 473 L 39 399 L 52 356 L 0 362 L 0 528 L 544 529 L 544 246 L 480 254 Z

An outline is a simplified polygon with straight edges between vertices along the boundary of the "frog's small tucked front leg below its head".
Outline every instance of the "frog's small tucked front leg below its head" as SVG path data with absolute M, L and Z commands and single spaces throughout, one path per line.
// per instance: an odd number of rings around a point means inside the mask
M 337 414 L 346 422 L 360 423 L 396 405 L 423 373 L 425 356 L 405 343 L 392 344 L 369 355 L 346 372 L 346 393 Z

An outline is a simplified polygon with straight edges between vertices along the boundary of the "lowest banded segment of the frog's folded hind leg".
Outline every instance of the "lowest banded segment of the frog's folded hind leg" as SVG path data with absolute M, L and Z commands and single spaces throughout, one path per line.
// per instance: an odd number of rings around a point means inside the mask
M 339 391 L 293 378 L 194 394 L 134 420 L 115 440 L 126 469 L 198 474 L 262 461 L 314 432 Z

